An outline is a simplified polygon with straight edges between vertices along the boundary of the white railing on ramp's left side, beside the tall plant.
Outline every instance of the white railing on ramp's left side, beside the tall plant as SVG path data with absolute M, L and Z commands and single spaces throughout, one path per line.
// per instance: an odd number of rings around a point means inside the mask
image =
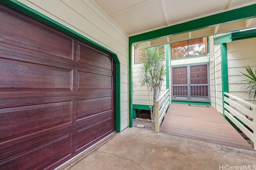
M 162 122 L 162 119 L 166 115 L 166 111 L 169 105 L 170 105 L 170 94 L 169 94 L 169 89 L 167 89 L 164 92 L 164 94 L 162 94 L 156 100 L 156 132 L 159 132 L 160 124 Z

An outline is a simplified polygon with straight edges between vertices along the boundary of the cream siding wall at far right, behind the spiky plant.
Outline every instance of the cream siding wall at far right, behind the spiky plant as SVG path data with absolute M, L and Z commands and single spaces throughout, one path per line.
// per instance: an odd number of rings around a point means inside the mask
M 244 86 L 244 82 L 241 82 L 241 80 L 245 76 L 240 72 L 247 73 L 244 66 L 248 65 L 253 71 L 256 69 L 256 38 L 227 43 L 227 52 L 229 93 L 248 102 L 252 102 L 241 91 L 242 86 Z

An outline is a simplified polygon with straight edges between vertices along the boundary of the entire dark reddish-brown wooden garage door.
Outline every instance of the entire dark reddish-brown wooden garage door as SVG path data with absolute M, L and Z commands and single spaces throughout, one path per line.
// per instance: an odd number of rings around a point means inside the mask
M 115 63 L 0 5 L 0 169 L 52 169 L 115 131 Z

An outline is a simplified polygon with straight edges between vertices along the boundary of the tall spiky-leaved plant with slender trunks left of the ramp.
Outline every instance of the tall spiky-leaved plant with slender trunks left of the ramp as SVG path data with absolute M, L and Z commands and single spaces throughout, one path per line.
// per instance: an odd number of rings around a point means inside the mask
M 164 48 L 161 46 L 146 48 L 143 50 L 140 60 L 142 64 L 140 67 L 139 80 L 141 86 L 147 86 L 151 122 L 155 124 L 156 110 L 152 109 L 152 106 L 156 108 L 156 100 L 160 95 L 162 82 L 166 75 Z

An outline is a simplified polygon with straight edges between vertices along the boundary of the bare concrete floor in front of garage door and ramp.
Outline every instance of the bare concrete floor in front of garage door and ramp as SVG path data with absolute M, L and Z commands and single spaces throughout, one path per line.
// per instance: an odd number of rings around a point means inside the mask
M 256 170 L 256 152 L 127 128 L 69 170 Z M 63 167 L 62 167 L 63 168 Z

